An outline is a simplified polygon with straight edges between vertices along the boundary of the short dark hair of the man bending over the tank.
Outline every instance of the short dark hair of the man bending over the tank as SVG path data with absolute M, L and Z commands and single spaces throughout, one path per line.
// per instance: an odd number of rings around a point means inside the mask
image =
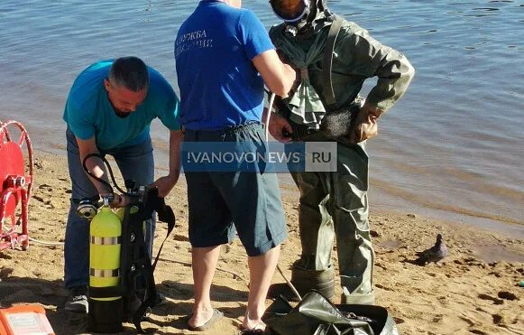
M 124 87 L 138 92 L 148 87 L 149 73 L 141 59 L 133 56 L 121 57 L 111 65 L 109 81 L 118 88 Z

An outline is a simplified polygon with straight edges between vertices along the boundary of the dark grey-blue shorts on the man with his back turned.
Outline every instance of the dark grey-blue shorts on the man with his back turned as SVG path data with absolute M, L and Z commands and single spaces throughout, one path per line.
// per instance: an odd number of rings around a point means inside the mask
M 184 143 L 235 142 L 258 151 L 266 149 L 263 136 L 260 124 L 220 131 L 186 129 Z M 191 246 L 223 245 L 231 242 L 238 232 L 247 255 L 260 256 L 287 237 L 275 173 L 186 171 L 185 175 Z

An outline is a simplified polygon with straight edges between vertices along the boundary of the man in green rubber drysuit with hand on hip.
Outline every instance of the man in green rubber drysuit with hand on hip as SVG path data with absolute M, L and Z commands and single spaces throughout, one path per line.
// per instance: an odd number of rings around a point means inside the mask
M 326 0 L 270 3 L 284 21 L 271 27 L 271 41 L 300 74 L 294 93 L 277 99 L 271 135 L 280 142 L 337 144 L 336 172 L 291 172 L 300 191 L 302 245 L 291 283 L 299 293 L 317 289 L 333 297 L 331 252 L 336 237 L 341 302 L 374 304 L 365 144 L 377 134 L 379 116 L 404 94 L 415 70 L 402 53 L 329 12 Z M 377 84 L 363 103 L 359 91 L 364 80 L 373 77 Z M 274 284 L 270 296 L 284 292 L 282 284 Z

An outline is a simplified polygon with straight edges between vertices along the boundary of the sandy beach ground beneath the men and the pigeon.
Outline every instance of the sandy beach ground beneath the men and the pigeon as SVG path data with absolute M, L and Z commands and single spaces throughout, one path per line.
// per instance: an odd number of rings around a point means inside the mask
M 30 237 L 63 242 L 69 210 L 70 181 L 66 158 L 35 153 L 35 181 L 30 202 Z M 290 276 L 299 253 L 298 193 L 282 190 L 290 237 L 282 246 L 280 267 Z M 188 205 L 185 179 L 171 191 L 167 203 L 177 215 L 155 272 L 158 289 L 167 302 L 153 309 L 145 328 L 159 334 L 190 334 L 184 317 L 191 311 L 192 276 L 188 243 Z M 524 240 L 455 222 L 427 219 L 409 212 L 381 211 L 372 204 L 371 227 L 376 247 L 374 287 L 377 304 L 386 307 L 404 334 L 524 334 Z M 435 265 L 412 261 L 416 252 L 444 236 L 450 256 Z M 157 225 L 155 247 L 166 226 Z M 40 303 L 57 334 L 85 333 L 87 314 L 63 309 L 63 247 L 32 242 L 0 252 L 0 303 Z M 273 282 L 283 282 L 277 273 Z M 225 318 L 205 333 L 238 331 L 247 301 L 248 273 L 244 248 L 237 239 L 222 248 L 212 299 Z M 335 302 L 340 288 L 336 287 Z M 267 301 L 269 305 L 271 301 Z M 126 323 L 125 333 L 135 333 Z

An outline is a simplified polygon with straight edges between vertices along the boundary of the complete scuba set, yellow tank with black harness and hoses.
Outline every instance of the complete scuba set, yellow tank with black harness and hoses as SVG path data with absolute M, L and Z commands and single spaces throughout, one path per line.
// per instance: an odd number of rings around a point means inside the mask
M 106 164 L 115 188 L 130 200 L 125 208 L 115 213 L 109 207 L 115 193 L 109 182 L 89 172 L 86 161 L 90 157 L 97 157 Z M 97 333 L 121 332 L 124 312 L 131 312 L 129 316 L 136 330 L 143 333 L 143 316 L 151 311 L 156 298 L 153 272 L 161 249 L 175 227 L 175 215 L 158 196 L 156 187 L 134 188 L 133 181 L 126 181 L 127 191 L 120 189 L 104 156 L 87 154 L 83 167 L 87 174 L 105 184 L 111 194 L 104 197 L 103 206 L 94 199 L 78 202 L 78 215 L 91 219 L 88 330 Z M 145 245 L 144 221 L 151 219 L 155 211 L 159 220 L 168 224 L 168 232 L 152 262 Z M 134 308 L 132 302 L 137 299 L 140 305 Z

